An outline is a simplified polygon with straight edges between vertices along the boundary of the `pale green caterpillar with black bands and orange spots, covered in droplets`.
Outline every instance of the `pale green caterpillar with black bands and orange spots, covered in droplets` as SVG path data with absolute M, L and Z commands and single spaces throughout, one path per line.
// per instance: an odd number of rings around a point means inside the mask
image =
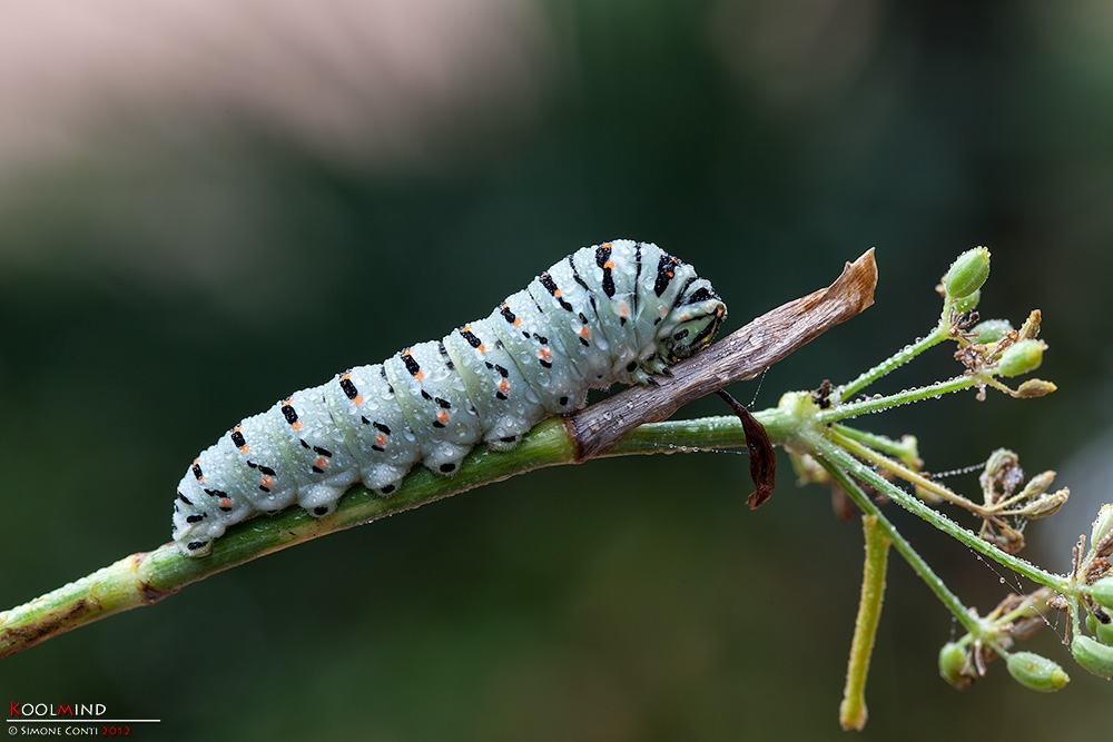
M 480 443 L 509 451 L 581 408 L 589 388 L 648 384 L 726 316 L 711 284 L 653 244 L 580 248 L 490 316 L 237 423 L 181 477 L 173 538 L 204 556 L 258 513 L 296 503 L 324 517 L 353 484 L 390 495 L 418 463 L 451 476 Z

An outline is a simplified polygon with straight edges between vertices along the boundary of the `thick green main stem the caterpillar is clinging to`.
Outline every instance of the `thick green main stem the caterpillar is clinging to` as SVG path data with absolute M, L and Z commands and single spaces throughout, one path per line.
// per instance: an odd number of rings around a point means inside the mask
M 782 443 L 791 426 L 780 410 L 756 415 L 770 437 Z M 644 425 L 620 439 L 608 456 L 672 451 L 745 447 L 737 417 L 706 417 Z M 142 605 L 151 605 L 186 585 L 273 552 L 434 502 L 484 484 L 560 464 L 575 463 L 575 447 L 560 418 L 541 423 L 511 452 L 477 448 L 452 478 L 414 468 L 390 497 L 353 487 L 332 515 L 316 520 L 293 507 L 270 517 L 238 523 L 205 557 L 184 556 L 174 544 L 126 556 L 30 603 L 0 613 L 0 657 Z

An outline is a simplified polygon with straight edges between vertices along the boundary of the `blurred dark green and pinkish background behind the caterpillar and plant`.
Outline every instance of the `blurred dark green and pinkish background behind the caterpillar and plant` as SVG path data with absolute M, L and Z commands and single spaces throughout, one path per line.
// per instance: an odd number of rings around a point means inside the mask
M 997 446 L 1040 471 L 1107 425 L 1109 2 L 71 6 L 0 9 L 0 607 L 164 543 L 185 466 L 240 417 L 611 238 L 692 263 L 728 329 L 877 247 L 876 306 L 758 408 L 925 333 L 949 261 L 987 245 L 983 316 L 1043 309 L 1060 390 L 864 426 L 915 433 L 934 471 Z M 883 386 L 955 370 L 939 352 Z M 760 511 L 748 487 L 726 453 L 538 472 L 11 656 L 0 701 L 162 720 L 137 739 L 845 739 L 859 528 L 787 458 Z M 1028 556 L 1064 568 L 1103 498 L 1075 492 Z M 982 611 L 1015 583 L 893 516 Z M 999 663 L 953 691 L 953 631 L 894 557 L 865 739 L 1113 721 L 1051 631 L 1028 649 L 1065 691 Z

